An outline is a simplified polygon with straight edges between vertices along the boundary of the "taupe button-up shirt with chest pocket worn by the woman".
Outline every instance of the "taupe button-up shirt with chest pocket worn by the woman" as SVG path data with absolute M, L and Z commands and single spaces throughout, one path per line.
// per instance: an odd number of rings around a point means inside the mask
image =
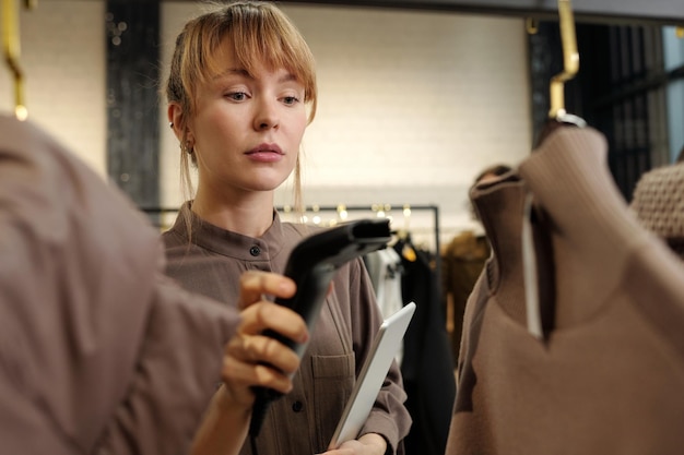
M 188 236 L 187 220 L 192 223 Z M 201 221 L 186 203 L 174 227 L 164 234 L 167 274 L 187 289 L 228 307 L 238 298 L 238 278 L 247 270 L 283 273 L 290 251 L 311 228 L 281 223 L 261 238 L 231 232 Z M 191 239 L 191 241 L 189 240 Z M 382 322 L 361 259 L 338 271 L 300 368 L 294 390 L 274 402 L 257 439 L 259 454 L 304 455 L 326 451 L 349 399 L 355 378 Z M 388 441 L 388 453 L 403 447 L 411 418 L 403 406 L 401 373 L 393 364 L 363 433 Z M 399 453 L 402 448 L 399 448 Z M 249 454 L 249 444 L 243 448 Z

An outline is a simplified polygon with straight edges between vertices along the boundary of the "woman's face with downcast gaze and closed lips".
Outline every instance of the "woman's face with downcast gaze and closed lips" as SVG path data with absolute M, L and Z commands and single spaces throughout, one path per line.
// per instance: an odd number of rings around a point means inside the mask
M 219 50 L 221 74 L 199 84 L 189 122 L 198 190 L 216 195 L 272 191 L 296 163 L 307 124 L 304 86 L 285 69 L 257 65 L 248 74 L 228 48 Z

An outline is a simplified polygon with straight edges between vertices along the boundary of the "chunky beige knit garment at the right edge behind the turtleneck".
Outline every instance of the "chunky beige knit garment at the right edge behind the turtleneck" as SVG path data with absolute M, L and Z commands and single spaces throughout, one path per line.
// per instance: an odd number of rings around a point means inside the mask
M 641 176 L 629 208 L 641 225 L 684 259 L 684 164 L 652 169 Z

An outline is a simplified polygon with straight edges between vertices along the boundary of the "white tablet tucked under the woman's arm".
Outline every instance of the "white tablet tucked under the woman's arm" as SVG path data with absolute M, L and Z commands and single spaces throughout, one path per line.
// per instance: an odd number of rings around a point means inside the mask
M 330 440 L 329 451 L 358 436 L 387 378 L 392 360 L 399 351 L 414 312 L 415 303 L 411 302 L 387 318 L 380 325 L 373 340 L 370 352 L 358 373 L 352 395 L 344 407 L 342 418 Z

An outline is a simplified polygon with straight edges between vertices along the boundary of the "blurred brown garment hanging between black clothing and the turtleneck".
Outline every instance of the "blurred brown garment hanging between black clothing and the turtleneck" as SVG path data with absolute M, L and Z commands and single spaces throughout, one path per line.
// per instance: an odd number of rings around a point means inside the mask
M 490 242 L 484 235 L 476 235 L 472 230 L 464 230 L 453 237 L 441 253 L 443 291 L 451 315 L 447 323 L 451 326 L 449 337 L 453 364 L 458 364 L 465 302 L 487 258 Z

